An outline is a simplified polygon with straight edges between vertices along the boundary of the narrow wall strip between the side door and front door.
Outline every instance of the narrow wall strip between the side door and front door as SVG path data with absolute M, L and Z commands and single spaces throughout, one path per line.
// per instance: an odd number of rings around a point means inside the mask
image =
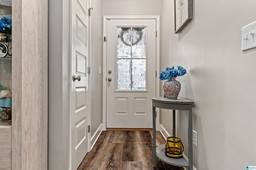
M 102 0 L 92 0 L 91 7 L 91 137 L 97 139 L 102 124 Z

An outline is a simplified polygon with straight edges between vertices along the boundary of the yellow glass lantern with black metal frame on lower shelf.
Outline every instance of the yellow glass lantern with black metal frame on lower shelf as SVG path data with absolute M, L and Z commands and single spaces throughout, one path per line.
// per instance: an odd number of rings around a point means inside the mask
M 183 153 L 183 144 L 180 138 L 168 137 L 165 144 L 165 155 L 170 158 L 181 158 Z

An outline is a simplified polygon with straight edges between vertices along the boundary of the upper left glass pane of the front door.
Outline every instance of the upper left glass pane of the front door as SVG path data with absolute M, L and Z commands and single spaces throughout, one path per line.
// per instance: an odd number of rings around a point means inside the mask
M 131 57 L 131 46 L 130 46 L 130 27 L 118 27 L 117 28 L 117 58 Z

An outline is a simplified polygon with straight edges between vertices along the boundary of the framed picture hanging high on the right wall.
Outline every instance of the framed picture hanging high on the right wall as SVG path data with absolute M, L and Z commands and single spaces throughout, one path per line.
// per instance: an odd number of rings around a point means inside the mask
M 174 0 L 175 33 L 179 33 L 193 18 L 192 0 Z

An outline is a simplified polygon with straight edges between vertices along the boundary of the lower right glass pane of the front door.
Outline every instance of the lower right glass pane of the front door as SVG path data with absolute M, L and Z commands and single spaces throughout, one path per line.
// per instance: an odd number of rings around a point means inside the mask
M 146 89 L 146 60 L 132 60 L 132 90 Z

